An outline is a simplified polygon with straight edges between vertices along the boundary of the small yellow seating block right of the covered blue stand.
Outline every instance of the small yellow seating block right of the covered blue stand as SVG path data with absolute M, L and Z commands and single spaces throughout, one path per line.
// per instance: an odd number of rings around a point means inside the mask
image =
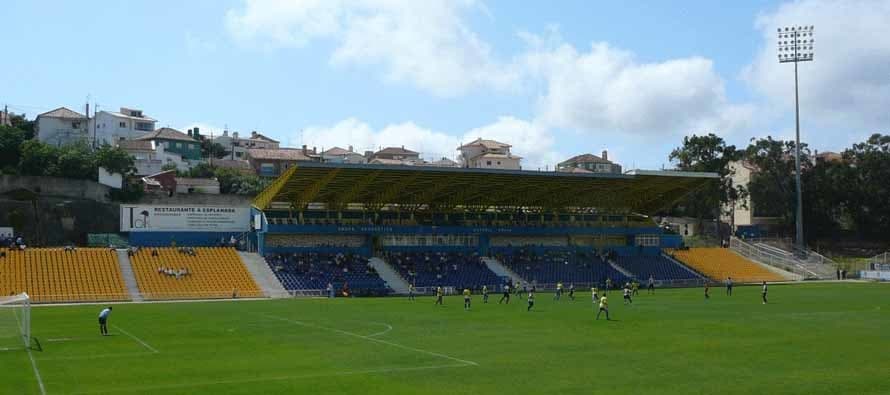
M 785 277 L 727 248 L 689 248 L 667 252 L 673 258 L 716 281 L 724 281 L 727 277 L 732 277 L 733 281 L 738 283 L 786 280 Z

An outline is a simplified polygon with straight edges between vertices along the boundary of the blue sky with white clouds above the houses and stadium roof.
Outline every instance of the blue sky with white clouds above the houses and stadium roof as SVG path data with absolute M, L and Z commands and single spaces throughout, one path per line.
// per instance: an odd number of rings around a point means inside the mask
M 839 151 L 890 123 L 890 0 L 3 2 L 0 106 L 139 108 L 158 126 L 256 130 L 284 146 L 477 137 L 523 168 L 582 153 L 671 167 L 685 135 L 794 136 L 776 29 L 815 26 L 801 136 Z

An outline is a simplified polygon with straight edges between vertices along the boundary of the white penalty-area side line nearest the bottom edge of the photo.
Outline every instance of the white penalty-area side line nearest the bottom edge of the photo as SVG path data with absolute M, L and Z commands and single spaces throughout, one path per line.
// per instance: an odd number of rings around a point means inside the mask
M 406 371 L 415 371 L 415 370 L 460 368 L 460 367 L 467 367 L 467 366 L 469 366 L 469 365 L 467 365 L 465 363 L 452 363 L 452 364 L 432 365 L 432 366 L 384 367 L 384 368 L 376 368 L 376 369 L 345 370 L 345 371 L 339 371 L 339 372 L 304 374 L 304 375 L 296 375 L 296 376 L 252 377 L 252 378 L 234 379 L 234 380 L 197 381 L 197 382 L 188 382 L 188 383 L 160 384 L 160 385 L 151 385 L 151 386 L 143 386 L 143 387 L 103 389 L 103 390 L 99 390 L 99 391 L 72 392 L 71 395 L 106 394 L 106 393 L 121 393 L 121 392 L 144 392 L 144 391 L 157 392 L 155 390 L 190 388 L 190 387 L 206 387 L 206 386 L 211 386 L 211 385 L 223 385 L 223 384 L 245 384 L 245 383 L 269 382 L 269 381 L 313 379 L 313 378 L 319 378 L 319 377 L 349 376 L 349 375 L 359 375 L 359 374 L 393 373 L 393 372 L 406 372 Z

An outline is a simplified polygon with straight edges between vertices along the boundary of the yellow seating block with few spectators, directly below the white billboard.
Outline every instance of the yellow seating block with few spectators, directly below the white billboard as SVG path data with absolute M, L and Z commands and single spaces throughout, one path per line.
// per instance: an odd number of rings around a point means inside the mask
M 142 248 L 130 262 L 139 291 L 148 300 L 263 297 L 234 248 Z M 163 273 L 166 268 L 188 274 Z

